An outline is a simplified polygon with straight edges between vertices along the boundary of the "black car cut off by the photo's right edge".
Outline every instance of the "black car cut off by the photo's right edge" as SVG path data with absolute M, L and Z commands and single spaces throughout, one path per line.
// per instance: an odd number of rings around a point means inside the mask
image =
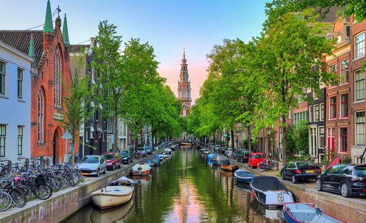
M 339 164 L 316 178 L 317 191 L 340 193 L 343 197 L 366 195 L 366 164 Z

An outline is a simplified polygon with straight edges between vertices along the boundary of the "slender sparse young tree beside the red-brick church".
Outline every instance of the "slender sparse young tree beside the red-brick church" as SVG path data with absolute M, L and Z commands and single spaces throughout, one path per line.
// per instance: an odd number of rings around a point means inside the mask
M 75 74 L 71 78 L 69 85 L 64 84 L 64 91 L 66 92 L 63 100 L 66 109 L 63 110 L 64 120 L 61 121 L 61 126 L 70 132 L 71 143 L 70 147 L 75 147 L 77 136 L 79 136 L 79 129 L 84 121 L 90 118 L 93 114 L 93 109 L 88 106 L 91 101 L 92 88 L 89 87 L 89 76 L 79 79 L 78 69 L 82 67 L 83 59 L 79 59 L 75 63 Z M 75 168 L 75 148 L 73 149 L 71 163 L 73 169 Z

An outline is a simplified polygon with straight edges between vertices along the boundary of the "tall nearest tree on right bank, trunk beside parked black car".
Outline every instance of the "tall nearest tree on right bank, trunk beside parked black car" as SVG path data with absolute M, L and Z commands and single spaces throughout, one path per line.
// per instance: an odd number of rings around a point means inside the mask
M 322 69 L 314 69 L 325 67 L 323 55 L 331 54 L 331 41 L 325 39 L 322 26 L 316 23 L 311 13 L 304 12 L 302 16 L 307 16 L 307 21 L 298 19 L 295 14 L 283 14 L 273 21 L 267 32 L 255 40 L 257 47 L 253 56 L 258 78 L 256 83 L 250 84 L 261 87 L 265 94 L 260 104 L 263 119 L 257 123 L 256 129 L 282 119 L 284 164 L 287 159 L 286 120 L 290 107 L 298 106 L 297 96 L 307 100 L 307 89 L 318 92 L 320 83 L 337 78 Z M 314 25 L 307 25 L 309 21 Z

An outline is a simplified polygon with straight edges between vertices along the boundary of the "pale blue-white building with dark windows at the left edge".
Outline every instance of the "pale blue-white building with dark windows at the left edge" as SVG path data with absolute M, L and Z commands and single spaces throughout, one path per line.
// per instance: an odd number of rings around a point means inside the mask
M 0 162 L 30 158 L 32 61 L 0 41 Z

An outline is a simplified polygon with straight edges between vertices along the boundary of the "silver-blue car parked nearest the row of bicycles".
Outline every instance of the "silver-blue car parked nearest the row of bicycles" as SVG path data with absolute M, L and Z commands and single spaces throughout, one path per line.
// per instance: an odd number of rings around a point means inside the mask
M 76 167 L 83 175 L 99 176 L 100 173 L 107 173 L 106 160 L 102 156 L 84 156 L 77 162 Z

